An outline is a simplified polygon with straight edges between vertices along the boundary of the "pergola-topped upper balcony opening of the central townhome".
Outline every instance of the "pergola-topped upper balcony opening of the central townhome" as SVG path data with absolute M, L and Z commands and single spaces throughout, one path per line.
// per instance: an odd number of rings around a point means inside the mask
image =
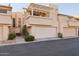
M 31 3 L 26 9 L 26 13 L 31 16 L 49 17 L 51 13 L 50 10 L 52 10 L 52 8 L 48 6 Z

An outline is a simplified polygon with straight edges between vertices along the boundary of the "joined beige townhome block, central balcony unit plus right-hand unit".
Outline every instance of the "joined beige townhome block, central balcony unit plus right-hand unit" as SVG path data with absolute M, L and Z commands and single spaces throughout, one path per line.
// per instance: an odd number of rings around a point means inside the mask
M 59 14 L 53 4 L 49 6 L 30 4 L 24 19 L 30 34 L 36 38 L 58 37 L 58 33 L 62 33 L 63 37 L 79 35 L 79 19 Z

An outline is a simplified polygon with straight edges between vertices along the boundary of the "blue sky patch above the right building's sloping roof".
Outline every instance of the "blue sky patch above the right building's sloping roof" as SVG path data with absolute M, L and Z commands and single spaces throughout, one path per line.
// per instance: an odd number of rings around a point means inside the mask
M 79 16 L 79 3 L 63 3 L 57 5 L 60 13 L 72 16 Z

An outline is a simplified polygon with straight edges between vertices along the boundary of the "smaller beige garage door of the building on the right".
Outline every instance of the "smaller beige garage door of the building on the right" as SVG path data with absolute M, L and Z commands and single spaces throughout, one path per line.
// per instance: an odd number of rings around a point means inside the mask
M 76 36 L 76 28 L 64 28 L 63 29 L 63 36 L 68 37 L 68 36 Z

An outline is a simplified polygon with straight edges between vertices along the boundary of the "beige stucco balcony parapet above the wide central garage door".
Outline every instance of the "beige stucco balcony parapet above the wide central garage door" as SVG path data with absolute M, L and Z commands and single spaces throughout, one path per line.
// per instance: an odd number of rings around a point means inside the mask
M 48 17 L 30 16 L 28 19 L 29 24 L 39 25 L 53 25 L 54 21 Z

